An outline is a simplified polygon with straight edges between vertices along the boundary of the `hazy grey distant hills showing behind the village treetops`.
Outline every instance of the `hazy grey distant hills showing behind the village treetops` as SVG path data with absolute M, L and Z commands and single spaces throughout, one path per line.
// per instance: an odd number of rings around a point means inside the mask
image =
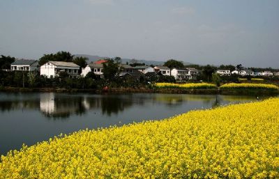
M 89 59 L 89 63 L 91 61 L 98 61 L 100 59 L 110 59 L 111 57 L 105 56 L 96 56 L 96 55 L 88 55 L 88 54 L 75 54 L 75 56 L 83 56 Z M 121 59 L 121 63 L 131 63 L 133 61 L 137 61 L 137 63 L 145 63 L 146 65 L 163 65 L 165 61 L 147 61 L 147 60 L 137 60 L 137 59 Z M 193 63 L 183 62 L 184 65 L 192 65 Z

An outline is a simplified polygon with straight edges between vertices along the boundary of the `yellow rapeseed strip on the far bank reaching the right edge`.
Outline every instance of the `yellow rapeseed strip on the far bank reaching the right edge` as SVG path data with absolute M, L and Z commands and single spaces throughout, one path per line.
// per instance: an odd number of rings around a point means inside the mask
M 279 87 L 274 84 L 224 84 L 220 86 L 222 89 L 267 89 L 267 90 L 279 90 Z

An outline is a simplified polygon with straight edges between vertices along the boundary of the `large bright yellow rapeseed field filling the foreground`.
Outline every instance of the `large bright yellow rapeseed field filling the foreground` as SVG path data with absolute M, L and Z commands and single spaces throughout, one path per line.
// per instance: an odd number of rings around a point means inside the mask
M 54 137 L 0 178 L 279 178 L 279 98 Z

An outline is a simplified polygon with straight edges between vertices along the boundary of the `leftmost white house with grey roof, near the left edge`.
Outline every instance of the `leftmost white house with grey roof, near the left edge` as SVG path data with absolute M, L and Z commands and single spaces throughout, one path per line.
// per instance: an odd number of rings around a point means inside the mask
M 39 64 L 36 60 L 25 60 L 25 59 L 16 59 L 13 63 L 10 64 L 10 70 L 20 70 L 20 71 L 34 71 L 39 70 Z

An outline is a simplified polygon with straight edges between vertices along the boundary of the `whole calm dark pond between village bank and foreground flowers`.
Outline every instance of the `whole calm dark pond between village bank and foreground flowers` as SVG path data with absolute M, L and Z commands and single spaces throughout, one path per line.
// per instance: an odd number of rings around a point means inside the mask
M 229 95 L 0 93 L 0 155 L 61 133 L 254 100 L 254 96 Z

